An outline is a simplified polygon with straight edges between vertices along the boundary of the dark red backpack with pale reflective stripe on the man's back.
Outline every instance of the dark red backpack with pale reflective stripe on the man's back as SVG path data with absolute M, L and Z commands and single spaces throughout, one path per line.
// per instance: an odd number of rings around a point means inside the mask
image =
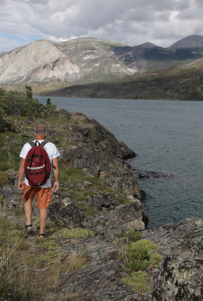
M 46 184 L 51 174 L 51 163 L 46 150 L 43 148 L 47 141 L 37 145 L 33 141 L 28 142 L 32 147 L 25 159 L 25 176 L 30 186 L 42 186 Z M 54 167 L 54 166 L 53 166 Z

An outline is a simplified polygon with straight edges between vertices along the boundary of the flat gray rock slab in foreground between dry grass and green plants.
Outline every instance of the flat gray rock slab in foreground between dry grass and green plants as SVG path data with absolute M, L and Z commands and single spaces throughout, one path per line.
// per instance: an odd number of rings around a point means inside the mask
M 64 294 L 72 287 L 76 296 L 79 292 L 79 299 L 84 301 L 138 300 L 138 295 L 120 280 L 124 271 L 114 260 L 109 259 L 112 252 L 117 251 L 117 244 L 99 236 L 81 238 L 77 242 L 68 240 L 63 244 L 64 252 L 75 250 L 76 246 L 78 252 L 86 248 L 85 256 L 90 258 L 90 263 L 68 277 L 62 289 Z

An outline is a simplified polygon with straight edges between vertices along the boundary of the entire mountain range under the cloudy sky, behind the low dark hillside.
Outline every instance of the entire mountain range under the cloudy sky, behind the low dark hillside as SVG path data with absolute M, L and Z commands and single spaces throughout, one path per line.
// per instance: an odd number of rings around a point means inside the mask
M 191 35 L 168 48 L 152 43 L 130 47 L 91 37 L 66 42 L 34 41 L 0 53 L 0 85 L 108 81 L 203 57 L 203 36 Z

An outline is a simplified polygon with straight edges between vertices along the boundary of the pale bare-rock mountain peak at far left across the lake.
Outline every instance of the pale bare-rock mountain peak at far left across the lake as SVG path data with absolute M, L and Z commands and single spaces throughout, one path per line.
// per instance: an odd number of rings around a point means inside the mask
M 14 82 L 73 81 L 88 70 L 46 40 L 35 41 L 0 58 L 0 84 Z

